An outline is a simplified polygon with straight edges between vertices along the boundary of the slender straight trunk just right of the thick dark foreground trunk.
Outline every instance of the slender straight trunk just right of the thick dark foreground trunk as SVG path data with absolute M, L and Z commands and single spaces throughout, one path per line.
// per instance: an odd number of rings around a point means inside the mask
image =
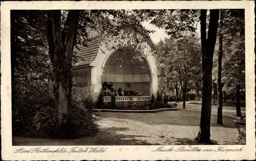
M 220 34 L 219 34 L 219 55 L 218 55 L 218 76 L 217 76 L 217 88 L 218 88 L 218 115 L 217 115 L 217 124 L 223 125 L 223 116 L 222 116 L 222 82 L 221 82 L 221 72 L 222 72 L 222 49 L 223 49 L 223 35 L 222 35 L 222 26 L 223 26 L 223 12 L 220 11 Z

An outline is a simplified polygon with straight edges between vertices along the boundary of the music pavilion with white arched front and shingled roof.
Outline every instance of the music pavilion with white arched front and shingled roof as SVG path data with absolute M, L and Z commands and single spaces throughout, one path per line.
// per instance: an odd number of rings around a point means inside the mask
M 151 38 L 147 37 L 144 53 L 140 51 L 144 57 L 140 58 L 136 57 L 139 51 L 132 47 L 109 50 L 105 45 L 103 39 L 92 38 L 86 46 L 74 49 L 77 62 L 73 71 L 80 77 L 80 83 L 94 85 L 95 93 L 100 92 L 102 85 L 111 85 L 111 90 L 128 91 L 125 96 L 148 96 L 137 99 L 150 99 L 153 93 L 156 96 L 160 70 L 156 46 Z M 83 88 L 80 87 L 81 92 Z M 130 95 L 131 91 L 133 94 Z

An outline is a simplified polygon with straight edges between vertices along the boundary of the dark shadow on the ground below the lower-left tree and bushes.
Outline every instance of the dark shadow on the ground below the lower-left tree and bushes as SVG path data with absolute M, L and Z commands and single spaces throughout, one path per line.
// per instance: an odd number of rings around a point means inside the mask
M 13 146 L 74 146 L 74 145 L 160 145 L 151 144 L 144 140 L 136 139 L 136 137 L 148 137 L 138 135 L 125 135 L 117 133 L 117 131 L 126 131 L 127 128 L 101 128 L 97 136 L 92 138 L 81 138 L 72 140 L 58 139 L 34 139 L 13 137 Z

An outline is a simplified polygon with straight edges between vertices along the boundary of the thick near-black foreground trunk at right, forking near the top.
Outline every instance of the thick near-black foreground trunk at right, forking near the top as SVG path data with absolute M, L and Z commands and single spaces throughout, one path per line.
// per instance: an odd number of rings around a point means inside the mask
M 206 12 L 201 10 L 201 45 L 203 68 L 203 98 L 201 109 L 200 130 L 196 140 L 199 143 L 212 144 L 210 141 L 212 58 L 217 38 L 219 10 L 210 10 L 208 36 L 206 38 Z

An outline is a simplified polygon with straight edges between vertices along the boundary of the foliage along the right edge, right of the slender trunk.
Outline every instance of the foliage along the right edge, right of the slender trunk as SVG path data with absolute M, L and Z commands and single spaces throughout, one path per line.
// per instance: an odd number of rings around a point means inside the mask
M 245 89 L 245 19 L 244 10 L 228 10 L 223 20 L 223 83 L 224 90 Z M 236 39 L 234 39 L 236 37 Z

